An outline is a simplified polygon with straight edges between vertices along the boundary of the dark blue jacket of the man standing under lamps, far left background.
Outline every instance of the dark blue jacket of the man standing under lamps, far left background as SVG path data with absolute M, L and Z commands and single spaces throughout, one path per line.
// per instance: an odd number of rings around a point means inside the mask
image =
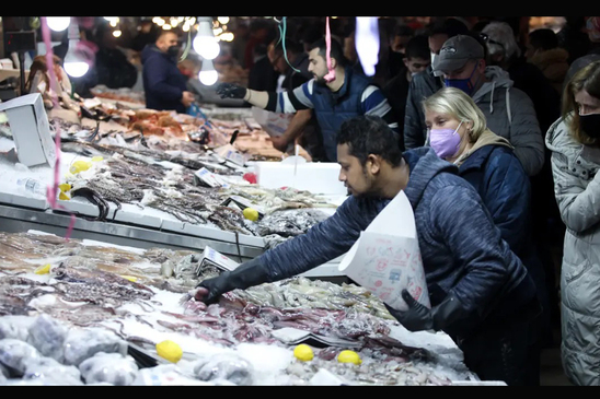
M 152 44 L 141 51 L 141 62 L 146 107 L 185 114 L 181 98 L 187 90 L 187 79 L 178 70 L 177 61 Z

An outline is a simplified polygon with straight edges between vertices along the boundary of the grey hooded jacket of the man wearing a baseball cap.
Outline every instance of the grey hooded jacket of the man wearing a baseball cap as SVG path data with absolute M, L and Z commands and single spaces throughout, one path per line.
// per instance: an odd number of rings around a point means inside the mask
M 473 101 L 489 130 L 515 146 L 527 175 L 536 175 L 544 164 L 544 140 L 531 98 L 512 87 L 508 72 L 500 67 L 487 67 L 485 77 L 488 81 L 473 94 Z

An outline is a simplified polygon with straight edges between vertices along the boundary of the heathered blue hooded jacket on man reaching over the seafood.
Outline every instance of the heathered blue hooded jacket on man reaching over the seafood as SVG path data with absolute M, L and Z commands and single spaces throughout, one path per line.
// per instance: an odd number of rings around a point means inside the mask
M 498 319 L 531 301 L 535 286 L 480 196 L 458 167 L 428 148 L 404 153 L 411 169 L 404 190 L 417 227 L 431 305 L 449 294 L 469 314 L 446 332 L 465 336 L 487 316 Z M 349 197 L 307 234 L 262 255 L 270 281 L 290 278 L 345 254 L 389 199 Z M 397 221 L 402 223 L 402 221 Z

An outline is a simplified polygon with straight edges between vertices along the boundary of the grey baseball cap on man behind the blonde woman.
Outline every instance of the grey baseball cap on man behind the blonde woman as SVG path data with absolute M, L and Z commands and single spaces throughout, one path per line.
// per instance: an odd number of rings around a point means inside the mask
M 484 58 L 483 46 L 469 35 L 457 35 L 443 43 L 439 56 L 434 62 L 434 71 L 455 71 L 464 67 L 470 59 Z

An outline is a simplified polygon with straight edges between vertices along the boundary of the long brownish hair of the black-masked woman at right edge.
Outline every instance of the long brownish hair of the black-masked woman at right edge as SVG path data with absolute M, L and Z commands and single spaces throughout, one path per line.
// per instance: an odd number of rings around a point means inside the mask
M 573 75 L 563 92 L 563 119 L 569 128 L 573 138 L 587 145 L 600 145 L 600 140 L 586 134 L 579 122 L 579 109 L 575 103 L 575 94 L 581 90 L 600 99 L 600 61 L 588 63 Z

